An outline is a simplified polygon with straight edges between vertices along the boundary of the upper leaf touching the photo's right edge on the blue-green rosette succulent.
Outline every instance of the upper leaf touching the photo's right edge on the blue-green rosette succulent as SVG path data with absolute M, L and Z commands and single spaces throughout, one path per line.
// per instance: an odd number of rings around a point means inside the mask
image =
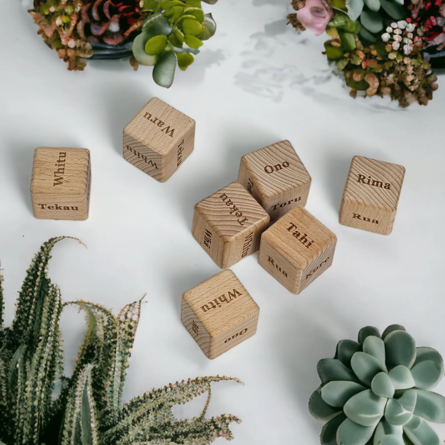
M 444 360 L 433 348 L 416 348 L 416 359 L 411 368 L 415 386 L 433 389 L 444 376 Z

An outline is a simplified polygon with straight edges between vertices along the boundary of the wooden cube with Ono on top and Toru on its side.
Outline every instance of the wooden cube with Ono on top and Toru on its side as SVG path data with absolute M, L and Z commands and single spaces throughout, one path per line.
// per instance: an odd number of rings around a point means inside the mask
M 238 181 L 267 211 L 271 220 L 304 207 L 311 177 L 289 141 L 261 148 L 241 158 Z

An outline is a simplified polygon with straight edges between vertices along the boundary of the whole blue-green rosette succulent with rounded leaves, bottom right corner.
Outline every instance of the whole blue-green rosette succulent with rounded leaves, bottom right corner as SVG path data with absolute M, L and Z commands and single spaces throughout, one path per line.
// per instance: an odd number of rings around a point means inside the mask
M 416 347 L 403 326 L 381 336 L 363 328 L 358 342 L 341 340 L 317 371 L 322 384 L 309 411 L 328 420 L 322 445 L 439 445 L 427 420 L 445 423 L 445 398 L 430 391 L 444 361 L 435 349 Z

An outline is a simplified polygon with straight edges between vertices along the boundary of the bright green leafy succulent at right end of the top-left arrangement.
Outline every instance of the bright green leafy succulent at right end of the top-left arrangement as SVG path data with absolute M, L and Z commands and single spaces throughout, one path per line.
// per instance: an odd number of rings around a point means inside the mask
M 214 4 L 217 0 L 202 0 Z M 153 66 L 153 80 L 169 88 L 176 65 L 185 71 L 204 40 L 216 32 L 212 14 L 204 14 L 201 0 L 143 0 L 147 21 L 134 39 L 133 55 L 141 65 Z

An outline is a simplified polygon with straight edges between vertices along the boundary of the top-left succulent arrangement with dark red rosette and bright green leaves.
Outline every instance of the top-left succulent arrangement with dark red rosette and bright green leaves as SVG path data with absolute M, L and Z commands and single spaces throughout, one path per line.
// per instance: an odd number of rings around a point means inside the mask
M 153 66 L 153 80 L 169 88 L 176 66 L 185 71 L 215 34 L 201 1 L 218 0 L 34 0 L 29 12 L 69 70 L 83 70 L 86 59 L 128 57 L 135 70 Z

